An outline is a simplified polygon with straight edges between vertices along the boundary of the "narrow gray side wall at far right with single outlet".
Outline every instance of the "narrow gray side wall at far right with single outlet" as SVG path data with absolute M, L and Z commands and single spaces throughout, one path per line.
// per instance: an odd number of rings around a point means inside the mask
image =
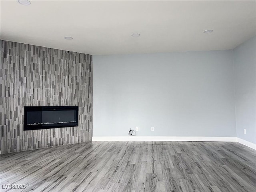
M 236 47 L 233 55 L 237 137 L 256 143 L 256 37 Z

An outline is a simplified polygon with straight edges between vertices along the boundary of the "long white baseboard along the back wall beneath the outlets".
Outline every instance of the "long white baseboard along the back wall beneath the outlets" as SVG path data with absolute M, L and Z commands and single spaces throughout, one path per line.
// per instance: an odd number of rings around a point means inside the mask
M 221 141 L 236 142 L 236 137 L 165 137 L 165 136 L 113 136 L 92 137 L 92 141 Z

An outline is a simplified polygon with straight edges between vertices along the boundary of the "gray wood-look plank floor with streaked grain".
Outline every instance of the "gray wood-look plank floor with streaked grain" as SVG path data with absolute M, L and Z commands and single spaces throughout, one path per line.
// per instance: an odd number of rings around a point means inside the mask
M 98 141 L 3 154 L 0 163 L 1 191 L 256 191 L 255 150 L 236 142 Z

